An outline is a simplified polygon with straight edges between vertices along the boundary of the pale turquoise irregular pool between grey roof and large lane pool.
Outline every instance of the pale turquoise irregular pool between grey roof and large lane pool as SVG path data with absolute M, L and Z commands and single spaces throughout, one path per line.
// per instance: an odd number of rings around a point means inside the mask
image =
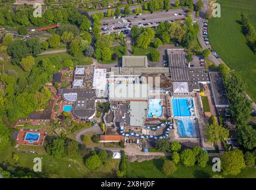
M 161 102 L 162 99 L 149 99 L 149 111 L 147 112 L 148 118 L 153 118 L 153 116 L 162 116 L 163 108 Z

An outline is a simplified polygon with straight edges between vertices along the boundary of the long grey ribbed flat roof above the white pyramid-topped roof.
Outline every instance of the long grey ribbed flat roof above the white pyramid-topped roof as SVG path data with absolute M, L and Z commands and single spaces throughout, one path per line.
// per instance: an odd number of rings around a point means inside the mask
M 172 81 L 188 81 L 189 67 L 184 49 L 168 49 L 169 70 Z

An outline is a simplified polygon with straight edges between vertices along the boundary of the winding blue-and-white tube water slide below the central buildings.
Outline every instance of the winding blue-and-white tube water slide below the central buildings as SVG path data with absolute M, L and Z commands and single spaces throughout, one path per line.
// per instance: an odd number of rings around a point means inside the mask
M 125 133 L 124 132 L 124 128 L 120 129 L 121 135 L 123 135 L 124 137 L 131 137 L 131 136 L 135 136 L 138 138 L 153 138 L 153 139 L 162 139 L 162 138 L 167 138 L 169 136 L 169 130 L 172 128 L 172 123 L 171 122 L 164 122 L 156 127 L 152 127 L 152 126 L 146 126 L 145 129 L 149 129 L 149 130 L 157 130 L 163 126 L 168 126 L 168 128 L 165 130 L 165 134 L 161 135 L 161 136 L 154 136 L 154 135 L 141 135 L 141 134 L 137 134 L 136 132 L 131 132 L 131 133 Z

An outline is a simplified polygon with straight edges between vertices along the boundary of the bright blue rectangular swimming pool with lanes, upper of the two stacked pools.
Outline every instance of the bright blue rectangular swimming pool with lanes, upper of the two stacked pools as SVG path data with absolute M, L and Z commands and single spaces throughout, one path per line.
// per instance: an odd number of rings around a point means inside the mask
M 172 110 L 174 117 L 195 116 L 193 99 L 172 99 Z

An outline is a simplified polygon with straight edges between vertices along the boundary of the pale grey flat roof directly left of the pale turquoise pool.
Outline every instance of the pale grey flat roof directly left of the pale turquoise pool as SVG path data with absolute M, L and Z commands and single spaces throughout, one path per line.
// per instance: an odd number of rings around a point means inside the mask
M 130 126 L 142 126 L 147 114 L 147 102 L 130 102 Z

